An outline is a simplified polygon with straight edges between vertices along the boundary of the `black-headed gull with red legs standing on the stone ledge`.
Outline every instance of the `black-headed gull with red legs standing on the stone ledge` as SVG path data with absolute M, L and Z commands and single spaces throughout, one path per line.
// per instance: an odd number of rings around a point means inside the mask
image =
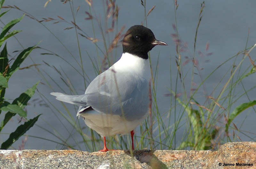
M 103 137 L 131 133 L 134 150 L 134 129 L 146 119 L 150 107 L 151 71 L 148 52 L 156 45 L 154 33 L 142 25 L 130 27 L 124 34 L 121 58 L 95 77 L 82 95 L 52 92 L 57 100 L 80 106 L 77 116 Z

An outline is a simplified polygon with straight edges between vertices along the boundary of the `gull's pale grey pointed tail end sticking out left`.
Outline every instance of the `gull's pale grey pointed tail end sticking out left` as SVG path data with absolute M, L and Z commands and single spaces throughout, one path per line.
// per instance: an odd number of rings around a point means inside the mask
M 53 96 L 56 96 L 57 100 L 60 100 L 66 103 L 70 103 L 78 106 L 87 106 L 86 102 L 81 100 L 81 98 L 83 98 L 84 95 L 68 95 L 68 94 L 63 94 L 59 92 L 52 92 L 50 94 Z

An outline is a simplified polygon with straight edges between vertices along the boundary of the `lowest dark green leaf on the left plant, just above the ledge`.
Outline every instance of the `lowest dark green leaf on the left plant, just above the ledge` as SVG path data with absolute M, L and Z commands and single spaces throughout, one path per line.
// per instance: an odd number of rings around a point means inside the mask
M 4 143 L 2 143 L 0 149 L 8 149 L 15 141 L 20 138 L 20 136 L 25 134 L 31 127 L 34 126 L 40 115 L 41 114 L 20 125 L 14 132 L 10 134 L 9 138 Z

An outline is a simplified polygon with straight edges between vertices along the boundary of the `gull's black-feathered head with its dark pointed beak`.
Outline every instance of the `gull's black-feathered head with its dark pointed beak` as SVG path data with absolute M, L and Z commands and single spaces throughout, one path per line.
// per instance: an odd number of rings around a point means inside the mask
M 148 52 L 156 45 L 167 45 L 156 40 L 154 33 L 142 25 L 134 25 L 124 35 L 123 53 L 127 52 L 148 59 Z

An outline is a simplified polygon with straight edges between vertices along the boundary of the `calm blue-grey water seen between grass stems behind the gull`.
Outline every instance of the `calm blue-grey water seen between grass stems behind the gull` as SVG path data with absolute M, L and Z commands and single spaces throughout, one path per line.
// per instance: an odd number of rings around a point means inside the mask
M 46 0 L 8 0 L 5 2 L 4 6 L 6 5 L 16 5 L 20 9 L 30 13 L 35 18 L 41 20 L 41 18 L 57 18 L 61 16 L 65 18 L 67 21 L 71 21 L 72 14 L 70 11 L 69 4 L 62 4 L 60 1 L 52 1 L 44 8 L 44 3 Z M 193 53 L 193 45 L 194 45 L 194 37 L 196 32 L 196 26 L 198 21 L 198 15 L 200 11 L 200 3 L 202 1 L 178 1 L 179 7 L 177 10 L 177 24 L 180 38 L 187 42 L 188 44 L 188 52 L 184 53 L 183 61 L 185 61 L 185 56 L 192 57 Z M 124 32 L 133 25 L 140 24 L 143 21 L 144 16 L 144 8 L 140 4 L 139 0 L 131 0 L 131 1 L 118 1 L 118 7 L 120 8 L 119 16 L 118 16 L 118 27 L 119 29 L 125 25 Z M 80 5 L 79 12 L 76 17 L 76 23 L 78 23 L 79 27 L 82 28 L 88 35 L 92 37 L 92 26 L 91 21 L 86 21 L 84 18 L 86 17 L 85 11 L 89 11 L 88 5 L 85 3 L 84 0 L 74 1 L 75 9 Z M 156 5 L 155 9 L 151 12 L 148 16 L 148 28 L 150 28 L 158 40 L 163 40 L 168 43 L 168 47 L 165 46 L 157 46 L 151 51 L 151 58 L 152 58 L 152 65 L 153 69 L 156 68 L 156 61 L 157 55 L 159 54 L 159 64 L 158 64 L 158 83 L 157 83 L 157 102 L 159 106 L 159 110 L 161 113 L 168 112 L 170 109 L 170 97 L 164 97 L 164 94 L 169 93 L 170 88 L 170 62 L 172 67 L 172 83 L 175 83 L 177 68 L 175 64 L 175 56 L 176 56 L 176 49 L 175 43 L 172 41 L 171 34 L 175 33 L 172 28 L 172 24 L 174 24 L 174 4 L 173 1 L 147 1 L 146 7 L 147 12 L 151 9 L 154 5 Z M 93 6 L 95 11 L 97 11 L 97 15 L 104 18 L 104 8 L 102 1 L 94 1 Z M 235 55 L 238 51 L 243 50 L 246 43 L 246 37 L 248 34 L 248 30 L 250 29 L 248 46 L 252 46 L 256 43 L 256 1 L 220 1 L 220 0 L 206 0 L 205 1 L 205 8 L 203 11 L 203 18 L 202 22 L 199 26 L 198 36 L 197 36 L 197 43 L 196 43 L 196 57 L 199 59 L 200 67 L 204 68 L 201 71 L 203 78 L 207 77 L 212 70 L 214 70 L 217 66 L 219 66 L 222 62 L 227 60 L 229 57 Z M 5 10 L 5 9 L 4 9 Z M 3 10 L 3 11 L 4 11 Z M 18 18 L 22 16 L 23 12 L 12 9 L 1 20 L 6 24 L 8 21 Z M 51 30 L 51 32 L 56 35 L 60 41 L 62 41 L 70 50 L 70 52 L 79 60 L 79 53 L 77 48 L 77 41 L 75 30 L 63 30 L 66 27 L 69 27 L 68 24 L 59 23 L 53 24 L 53 22 L 44 22 L 45 26 Z M 73 65 L 76 65 L 74 59 L 70 56 L 70 54 L 63 48 L 60 42 L 41 24 L 32 20 L 28 17 L 24 17 L 24 19 L 15 25 L 12 30 L 22 30 L 21 33 L 17 34 L 17 39 L 20 43 L 25 47 L 33 46 L 39 41 L 40 47 L 46 48 L 51 50 L 54 53 L 64 57 Z M 103 40 L 100 35 L 100 30 L 98 26 L 95 24 L 95 31 L 96 37 L 99 39 L 99 46 L 103 47 Z M 115 30 L 116 31 L 116 30 Z M 94 45 L 85 38 L 79 37 L 80 45 L 81 45 L 81 52 L 83 55 L 83 62 L 84 62 L 84 70 L 92 80 L 96 75 L 93 71 L 92 64 L 86 54 L 85 50 L 91 55 L 92 57 L 96 56 L 95 54 L 95 47 Z M 205 51 L 205 44 L 209 42 L 210 48 L 208 52 L 213 52 L 211 56 L 199 57 L 197 51 Z M 21 50 L 22 47 L 14 38 L 11 38 L 7 41 L 7 48 L 9 53 L 15 50 Z M 49 69 L 43 61 L 50 63 L 51 65 L 56 66 L 58 69 L 62 68 L 67 74 L 68 77 L 72 80 L 72 84 L 77 89 L 76 91 L 79 94 L 84 93 L 84 83 L 83 79 L 71 68 L 66 62 L 63 62 L 60 58 L 52 56 L 52 55 L 40 55 L 40 53 L 44 53 L 45 51 L 36 49 L 30 55 L 34 62 L 37 64 L 42 64 L 40 66 L 41 70 L 49 73 L 52 78 L 56 80 L 58 84 L 62 84 L 63 82 L 60 79 L 59 75 L 52 69 Z M 204 52 L 205 53 L 205 52 Z M 121 46 L 117 48 L 117 57 L 114 58 L 116 61 L 122 54 Z M 255 49 L 252 51 L 251 56 L 255 59 Z M 14 54 L 12 54 L 14 55 Z M 171 60 L 170 60 L 171 57 Z M 239 58 L 241 59 L 242 56 Z M 102 56 L 103 58 L 103 56 Z M 210 60 L 210 62 L 204 62 L 205 60 Z M 238 59 L 239 60 L 239 59 Z M 240 61 L 240 60 L 239 60 Z M 238 63 L 238 62 L 237 62 Z M 21 67 L 28 66 L 33 64 L 30 58 L 27 58 L 25 62 L 21 65 Z M 228 71 L 230 65 L 233 62 L 229 62 L 228 64 L 224 65 L 220 69 L 218 69 L 212 76 L 209 78 L 205 86 L 207 88 L 208 94 L 212 92 L 212 89 L 218 85 L 221 77 Z M 250 65 L 249 59 L 246 59 L 244 62 L 245 65 Z M 185 67 L 185 71 L 191 71 L 191 62 Z M 190 76 L 190 73 L 188 73 Z M 228 77 L 225 78 L 220 86 L 223 86 L 227 81 Z M 243 84 L 246 89 L 255 85 L 255 75 L 251 76 L 251 78 L 245 78 L 243 80 Z M 22 91 L 25 91 L 28 87 L 34 85 L 37 81 L 41 80 L 44 82 L 44 79 L 39 76 L 35 69 L 28 69 L 28 70 L 20 70 L 17 71 L 14 76 L 9 81 L 9 88 L 6 91 L 6 98 L 15 99 L 19 96 Z M 48 78 L 50 80 L 50 78 Z M 187 84 L 186 89 L 189 91 L 190 88 L 190 77 L 187 77 Z M 200 84 L 200 78 L 195 76 L 196 84 Z M 57 86 L 50 80 L 50 83 L 55 91 L 59 89 Z M 243 92 L 241 85 L 238 85 L 240 88 L 237 89 L 237 92 Z M 63 87 L 69 93 L 68 88 L 66 86 Z M 217 93 L 220 92 L 221 87 L 219 87 L 215 92 L 215 96 Z M 52 102 L 56 107 L 58 107 L 61 111 L 65 111 L 64 108 L 61 106 L 60 102 L 55 100 L 49 93 L 52 90 L 47 87 L 46 85 L 39 84 L 38 91 L 43 93 L 50 102 Z M 182 92 L 181 88 L 178 89 L 179 92 Z M 58 91 L 60 92 L 60 91 Z M 196 95 L 196 99 L 200 102 L 200 104 L 204 104 L 204 91 L 201 90 Z M 250 99 L 256 98 L 256 90 L 253 89 L 251 92 L 248 93 Z M 39 94 L 36 93 L 33 99 L 41 99 Z M 240 98 L 236 104 L 231 108 L 230 111 L 233 111 L 234 108 L 243 103 L 247 102 L 248 99 L 246 96 Z M 60 132 L 62 136 L 68 137 L 69 133 L 72 128 L 69 124 L 65 124 L 66 127 L 70 131 L 67 131 L 63 128 L 58 118 L 52 113 L 52 110 L 48 107 L 40 106 L 38 102 L 30 102 L 30 106 L 27 107 L 28 110 L 28 118 L 33 118 L 36 114 L 43 114 L 39 118 L 36 124 L 45 127 L 46 129 L 51 130 L 52 132 Z M 224 107 L 226 105 L 223 105 Z M 74 107 L 72 105 L 67 105 L 69 110 L 72 112 L 74 111 Z M 74 113 L 74 118 L 75 114 Z M 3 119 L 3 113 L 0 115 L 0 119 Z M 245 119 L 246 117 L 246 119 Z M 234 121 L 236 126 L 244 131 L 249 131 L 254 134 L 250 134 L 250 137 L 254 138 L 255 140 L 255 118 L 256 114 L 253 111 L 246 110 L 242 114 L 240 114 Z M 62 117 L 60 117 L 62 119 Z M 244 121 L 245 119 L 245 121 Z M 46 120 L 53 129 L 45 123 Z M 9 122 L 6 127 L 4 128 L 4 133 L 10 133 L 16 129 L 18 126 L 17 118 L 13 117 L 12 121 Z M 222 120 L 223 121 L 223 120 Z M 244 121 L 244 123 L 243 123 Z M 82 120 L 81 120 L 82 122 Z M 172 121 L 173 123 L 174 121 Z M 181 138 L 183 134 L 184 128 L 178 130 L 177 138 Z M 44 137 L 47 139 L 56 140 L 54 136 L 51 136 L 48 132 L 40 129 L 39 127 L 31 128 L 26 134 L 32 136 L 39 136 Z M 247 136 L 238 133 L 238 136 L 243 141 L 250 141 L 251 139 Z M 80 140 L 78 134 L 74 134 L 74 137 L 77 137 L 77 140 Z M 6 135 L 0 136 L 0 142 L 6 140 Z M 21 137 L 16 143 L 13 144 L 14 148 L 18 148 L 18 145 L 21 144 L 21 140 L 24 139 L 24 136 Z M 42 139 L 37 139 L 33 137 L 28 137 L 27 144 L 25 149 L 58 149 L 60 146 L 57 146 L 55 143 L 47 142 Z

